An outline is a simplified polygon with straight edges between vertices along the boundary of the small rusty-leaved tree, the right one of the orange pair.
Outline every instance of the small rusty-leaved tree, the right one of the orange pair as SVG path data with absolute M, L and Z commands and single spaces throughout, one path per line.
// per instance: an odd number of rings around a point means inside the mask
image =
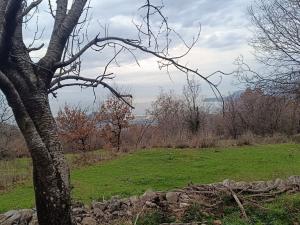
M 103 135 L 112 147 L 120 151 L 122 130 L 128 128 L 130 121 L 134 119 L 131 107 L 119 98 L 111 96 L 102 104 L 98 118 L 103 124 Z

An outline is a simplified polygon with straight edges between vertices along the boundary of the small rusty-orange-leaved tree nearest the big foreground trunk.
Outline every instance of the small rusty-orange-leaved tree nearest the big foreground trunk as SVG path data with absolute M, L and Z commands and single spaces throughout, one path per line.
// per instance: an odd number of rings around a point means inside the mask
M 87 114 L 87 108 L 70 107 L 60 109 L 57 116 L 59 133 L 66 142 L 75 144 L 81 151 L 88 149 L 88 140 L 95 132 L 95 120 Z

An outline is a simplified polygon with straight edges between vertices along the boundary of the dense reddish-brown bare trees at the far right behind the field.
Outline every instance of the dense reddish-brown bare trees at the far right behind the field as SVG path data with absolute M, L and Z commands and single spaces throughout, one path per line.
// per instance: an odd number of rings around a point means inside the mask
M 233 138 L 250 131 L 255 135 L 297 132 L 299 103 L 284 96 L 274 96 L 260 89 L 246 89 L 225 101 L 225 131 Z

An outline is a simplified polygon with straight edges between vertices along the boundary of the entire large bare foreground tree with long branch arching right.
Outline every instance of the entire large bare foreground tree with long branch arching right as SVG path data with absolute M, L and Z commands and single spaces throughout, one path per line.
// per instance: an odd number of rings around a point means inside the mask
M 32 40 L 26 44 L 23 30 L 26 23 L 39 12 L 40 4 L 48 7 L 53 19 L 52 32 L 46 43 L 37 45 L 35 41 L 40 36 L 37 30 L 31 37 L 26 37 Z M 89 38 L 86 30 L 89 9 L 87 0 L 57 0 L 55 3 L 43 0 L 0 0 L 0 89 L 13 110 L 31 153 L 40 225 L 72 223 L 69 168 L 51 113 L 49 94 L 56 96 L 58 89 L 68 86 L 95 88 L 102 85 L 126 101 L 106 80 L 113 78 L 113 74 L 108 71 L 109 65 L 121 52 L 134 55 L 136 51 L 158 58 L 161 69 L 168 70 L 174 66 L 185 74 L 198 75 L 219 93 L 216 84 L 209 80 L 210 75 L 205 76 L 198 69 L 188 68 L 179 61 L 196 44 L 200 34 L 190 45 L 184 42 L 187 51 L 182 55 L 170 55 L 171 37 L 178 35 L 169 27 L 162 6 L 154 5 L 150 0 L 142 5 L 140 13 L 144 16 L 136 24 L 136 39 L 110 36 L 106 28 Z M 152 20 L 153 17 L 156 19 Z M 100 75 L 94 78 L 83 77 L 80 73 L 83 54 L 89 49 L 101 54 L 106 48 L 112 49 L 115 54 Z M 32 58 L 30 53 L 41 49 L 41 58 Z

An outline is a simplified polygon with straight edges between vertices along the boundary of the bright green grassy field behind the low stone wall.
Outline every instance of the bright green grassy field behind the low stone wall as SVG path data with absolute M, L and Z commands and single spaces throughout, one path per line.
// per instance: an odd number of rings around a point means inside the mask
M 267 180 L 300 174 L 300 145 L 279 144 L 218 149 L 152 149 L 99 165 L 74 169 L 73 198 L 83 202 L 169 190 L 188 183 L 224 179 Z M 0 212 L 32 207 L 30 181 L 0 193 Z

